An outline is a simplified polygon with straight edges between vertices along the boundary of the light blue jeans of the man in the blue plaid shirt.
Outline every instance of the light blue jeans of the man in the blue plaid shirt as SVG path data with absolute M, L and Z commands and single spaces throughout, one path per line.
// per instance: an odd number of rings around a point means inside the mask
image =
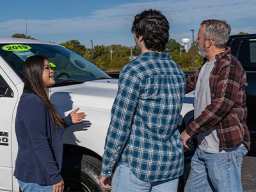
M 179 178 L 173 180 L 164 180 L 162 182 L 146 182 L 138 179 L 125 165 L 116 168 L 112 179 L 111 192 L 177 192 Z

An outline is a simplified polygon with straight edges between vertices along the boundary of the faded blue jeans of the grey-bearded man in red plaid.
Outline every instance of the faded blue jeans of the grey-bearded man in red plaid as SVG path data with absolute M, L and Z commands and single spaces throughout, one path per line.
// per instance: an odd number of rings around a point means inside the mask
M 247 152 L 243 145 L 223 154 L 209 154 L 197 148 L 184 191 L 243 192 L 241 166 Z

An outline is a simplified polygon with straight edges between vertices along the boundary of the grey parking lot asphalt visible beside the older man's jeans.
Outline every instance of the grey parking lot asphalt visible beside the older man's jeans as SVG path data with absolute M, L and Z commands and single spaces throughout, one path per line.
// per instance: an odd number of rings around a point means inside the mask
M 190 164 L 187 162 L 184 167 L 184 180 L 188 179 L 189 167 Z M 243 192 L 256 192 L 256 157 L 244 157 L 241 181 L 243 184 Z

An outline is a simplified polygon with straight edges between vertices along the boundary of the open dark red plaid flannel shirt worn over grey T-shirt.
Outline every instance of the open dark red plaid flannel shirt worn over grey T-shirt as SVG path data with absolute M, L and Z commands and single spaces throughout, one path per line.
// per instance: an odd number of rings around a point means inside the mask
M 195 90 L 200 69 L 187 79 L 186 92 Z M 211 104 L 186 127 L 191 137 L 217 125 L 220 148 L 236 147 L 240 143 L 250 150 L 250 133 L 246 126 L 247 108 L 244 86 L 246 74 L 241 63 L 231 54 L 230 47 L 216 55 L 210 75 Z

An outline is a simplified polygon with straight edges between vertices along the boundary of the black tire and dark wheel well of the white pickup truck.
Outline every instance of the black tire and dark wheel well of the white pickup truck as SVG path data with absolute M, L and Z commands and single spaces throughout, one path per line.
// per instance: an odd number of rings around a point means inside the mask
M 99 174 L 101 162 L 88 156 L 67 156 L 63 158 L 61 176 L 64 180 L 64 191 L 104 191 L 100 188 Z

